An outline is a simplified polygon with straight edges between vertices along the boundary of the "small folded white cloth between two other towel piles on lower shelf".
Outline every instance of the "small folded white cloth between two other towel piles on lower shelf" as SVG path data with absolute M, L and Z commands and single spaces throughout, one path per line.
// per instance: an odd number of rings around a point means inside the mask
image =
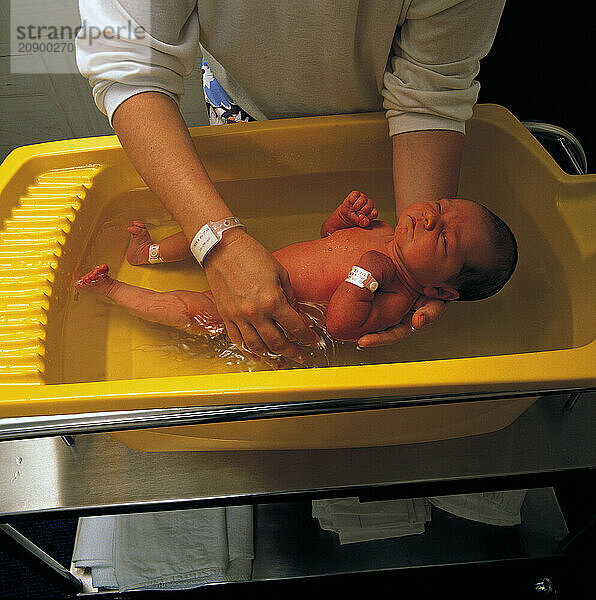
M 358 498 L 313 500 L 312 516 L 340 544 L 424 533 L 430 508 L 424 498 L 360 502 Z

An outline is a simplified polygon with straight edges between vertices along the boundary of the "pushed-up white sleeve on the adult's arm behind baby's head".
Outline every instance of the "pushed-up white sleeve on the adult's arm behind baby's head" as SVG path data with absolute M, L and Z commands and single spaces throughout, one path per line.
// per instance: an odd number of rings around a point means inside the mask
M 495 38 L 505 0 L 413 0 L 384 75 L 391 135 L 465 131 L 480 84 L 474 78 Z

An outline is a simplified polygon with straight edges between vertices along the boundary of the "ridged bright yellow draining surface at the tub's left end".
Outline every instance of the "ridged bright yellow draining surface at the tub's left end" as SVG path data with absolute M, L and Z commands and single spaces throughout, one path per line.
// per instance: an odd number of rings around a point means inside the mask
M 40 173 L 0 229 L 0 382 L 41 384 L 47 310 L 66 235 L 100 166 Z

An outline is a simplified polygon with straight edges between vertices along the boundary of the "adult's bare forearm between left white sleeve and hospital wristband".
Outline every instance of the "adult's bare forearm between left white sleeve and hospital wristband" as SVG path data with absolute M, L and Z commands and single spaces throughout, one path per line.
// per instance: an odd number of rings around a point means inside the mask
M 112 124 L 128 158 L 188 239 L 208 220 L 231 214 L 169 96 L 159 92 L 131 96 L 116 109 Z

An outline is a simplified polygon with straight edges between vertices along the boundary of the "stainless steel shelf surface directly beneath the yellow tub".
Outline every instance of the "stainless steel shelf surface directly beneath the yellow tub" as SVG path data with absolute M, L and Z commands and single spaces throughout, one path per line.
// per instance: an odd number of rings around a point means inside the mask
M 0 442 L 0 515 L 116 514 L 354 492 L 371 497 L 392 486 L 441 483 L 462 488 L 444 493 L 464 493 L 492 478 L 593 469 L 596 394 L 582 395 L 572 410 L 565 409 L 568 398 L 541 398 L 491 434 L 402 446 L 149 453 L 106 434 L 76 436 L 71 446 L 59 437 Z

